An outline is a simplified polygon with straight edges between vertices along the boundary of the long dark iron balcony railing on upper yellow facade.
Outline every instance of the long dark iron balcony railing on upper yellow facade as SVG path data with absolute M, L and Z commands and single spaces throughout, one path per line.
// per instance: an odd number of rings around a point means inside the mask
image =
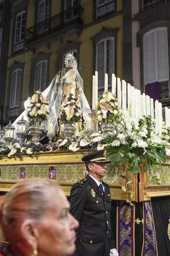
M 29 27 L 26 30 L 26 44 L 42 37 L 43 35 L 50 34 L 61 29 L 72 22 L 79 22 L 80 24 L 83 24 L 82 16 L 83 8 L 80 5 L 76 5 L 75 7 L 55 15 L 48 20 L 44 20 L 33 27 Z

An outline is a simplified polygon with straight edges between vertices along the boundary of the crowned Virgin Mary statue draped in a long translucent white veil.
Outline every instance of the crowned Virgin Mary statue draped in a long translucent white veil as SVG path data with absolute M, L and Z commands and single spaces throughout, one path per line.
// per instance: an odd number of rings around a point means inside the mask
M 55 131 L 59 131 L 58 114 L 64 97 L 68 94 L 72 93 L 80 98 L 84 118 L 91 112 L 86 96 L 84 95 L 83 79 L 78 72 L 77 61 L 74 54 L 66 54 L 64 63 L 65 68 L 61 69 L 56 74 L 51 84 L 42 93 L 47 98 L 48 102 L 50 102 L 49 121 L 53 123 Z M 24 103 L 25 109 L 29 104 L 30 99 Z M 28 120 L 26 110 L 12 124 L 16 129 L 17 121 L 19 121 L 22 116 L 24 116 L 25 120 Z

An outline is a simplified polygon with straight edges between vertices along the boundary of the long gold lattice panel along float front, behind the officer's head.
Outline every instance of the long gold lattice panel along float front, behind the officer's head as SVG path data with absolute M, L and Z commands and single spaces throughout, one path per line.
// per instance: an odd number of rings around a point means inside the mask
M 84 177 L 83 163 L 52 163 L 52 164 L 16 164 L 0 166 L 0 182 L 18 182 L 19 169 L 25 168 L 25 178 L 48 178 L 48 168 L 55 167 L 57 171 L 56 182 L 59 184 L 74 184 Z M 108 185 L 121 185 L 120 177 L 122 169 L 120 165 L 107 166 L 107 175 L 104 177 Z

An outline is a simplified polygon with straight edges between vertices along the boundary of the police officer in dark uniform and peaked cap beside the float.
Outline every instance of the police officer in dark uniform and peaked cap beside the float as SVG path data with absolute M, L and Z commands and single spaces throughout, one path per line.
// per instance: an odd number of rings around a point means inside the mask
M 75 183 L 70 193 L 70 212 L 79 221 L 74 256 L 118 256 L 111 235 L 110 189 L 102 178 L 106 174 L 104 150 L 82 158 L 88 174 Z

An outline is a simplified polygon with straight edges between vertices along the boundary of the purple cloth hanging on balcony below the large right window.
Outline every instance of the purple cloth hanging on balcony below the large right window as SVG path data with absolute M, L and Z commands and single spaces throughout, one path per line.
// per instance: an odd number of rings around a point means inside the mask
M 155 83 L 148 83 L 146 84 L 146 94 L 150 96 L 150 98 L 153 98 L 155 101 L 156 99 L 160 99 L 161 96 L 161 87 L 162 84 L 159 82 Z

